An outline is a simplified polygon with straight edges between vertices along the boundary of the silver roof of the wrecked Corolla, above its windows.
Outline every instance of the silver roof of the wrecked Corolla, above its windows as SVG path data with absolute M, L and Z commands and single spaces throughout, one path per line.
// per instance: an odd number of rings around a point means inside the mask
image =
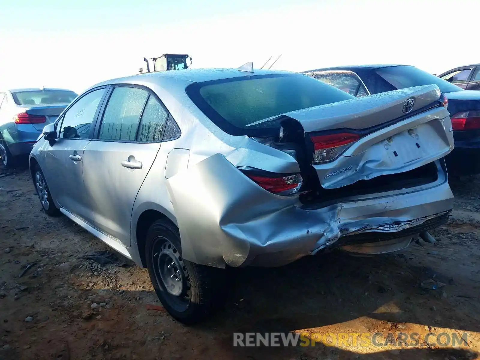
M 144 72 L 127 76 L 118 79 L 111 79 L 102 83 L 96 84 L 92 87 L 108 84 L 119 84 L 122 82 L 136 82 L 147 81 L 152 82 L 154 79 L 178 79 L 188 81 L 191 83 L 199 83 L 203 81 L 228 79 L 232 77 L 241 76 L 254 76 L 254 75 L 266 75 L 266 74 L 288 74 L 295 72 L 281 71 L 281 70 L 264 70 L 254 69 L 254 72 L 244 72 L 237 69 L 186 69 L 186 70 L 171 70 L 171 71 L 159 71 L 159 72 Z

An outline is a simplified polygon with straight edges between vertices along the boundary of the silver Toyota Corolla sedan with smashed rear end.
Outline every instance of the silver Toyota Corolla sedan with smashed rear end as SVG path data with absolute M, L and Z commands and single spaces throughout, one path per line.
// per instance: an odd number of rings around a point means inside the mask
M 96 84 L 45 127 L 30 169 L 60 213 L 148 267 L 185 324 L 226 267 L 403 249 L 453 206 L 436 85 L 354 98 L 281 71 L 193 69 Z

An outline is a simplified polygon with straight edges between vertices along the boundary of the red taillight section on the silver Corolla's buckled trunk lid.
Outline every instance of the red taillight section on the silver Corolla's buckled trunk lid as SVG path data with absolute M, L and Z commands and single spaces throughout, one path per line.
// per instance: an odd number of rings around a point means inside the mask
M 336 159 L 351 144 L 360 139 L 360 135 L 351 132 L 311 136 L 313 143 L 312 164 L 321 164 Z

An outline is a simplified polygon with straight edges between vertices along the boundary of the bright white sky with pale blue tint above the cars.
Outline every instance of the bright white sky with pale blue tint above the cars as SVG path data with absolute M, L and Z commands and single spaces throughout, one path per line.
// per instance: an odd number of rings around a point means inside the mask
M 282 54 L 272 69 L 440 73 L 480 62 L 479 14 L 479 0 L 3 0 L 0 88 L 81 92 L 163 53 L 187 53 L 195 68 L 259 68 Z

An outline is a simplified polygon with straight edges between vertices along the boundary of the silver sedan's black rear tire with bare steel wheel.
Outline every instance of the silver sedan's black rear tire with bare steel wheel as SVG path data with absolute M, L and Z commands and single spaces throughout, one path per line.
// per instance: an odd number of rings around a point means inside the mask
M 145 241 L 145 255 L 158 299 L 180 323 L 199 323 L 222 304 L 225 269 L 193 264 L 182 259 L 180 233 L 169 220 L 156 220 L 150 226 Z M 170 269 L 167 268 L 168 264 L 174 265 Z M 176 277 L 170 280 L 172 276 Z

